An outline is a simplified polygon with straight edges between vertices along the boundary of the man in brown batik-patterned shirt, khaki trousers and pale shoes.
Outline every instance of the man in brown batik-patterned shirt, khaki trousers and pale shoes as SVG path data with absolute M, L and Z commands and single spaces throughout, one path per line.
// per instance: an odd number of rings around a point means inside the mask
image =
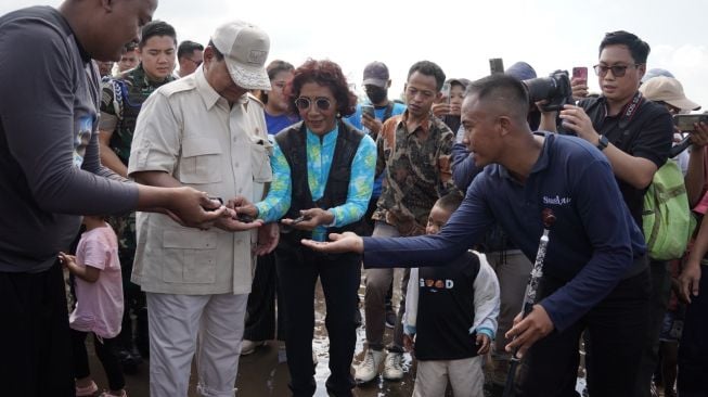
M 450 155 L 454 133 L 436 118 L 432 106 L 439 99 L 445 74 L 433 62 L 415 63 L 409 71 L 406 84 L 408 108 L 402 115 L 384 123 L 376 139 L 378 161 L 376 175 L 384 172 L 382 194 L 373 219 L 376 221 L 373 236 L 408 236 L 425 234 L 430 208 L 450 191 L 452 183 Z M 408 271 L 401 285 L 392 344 L 384 355 L 385 296 L 394 279 L 394 269 L 368 269 L 364 313 L 366 316 L 368 350 L 364 361 L 357 367 L 355 379 L 360 383 L 377 377 L 381 362 L 384 379 L 398 381 L 403 377 L 403 330 L 401 317 L 404 310 Z

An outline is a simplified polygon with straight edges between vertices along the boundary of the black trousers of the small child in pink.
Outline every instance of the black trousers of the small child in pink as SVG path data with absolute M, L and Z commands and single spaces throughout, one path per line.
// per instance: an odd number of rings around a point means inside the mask
M 72 349 L 74 351 L 74 372 L 77 379 L 86 377 L 91 374 L 89 369 L 89 355 L 86 351 L 87 332 L 72 330 Z M 112 390 L 119 390 L 126 386 L 126 380 L 123 376 L 120 362 L 115 355 L 117 338 L 100 338 L 93 335 L 93 348 L 99 356 L 103 370 L 108 379 L 108 387 Z

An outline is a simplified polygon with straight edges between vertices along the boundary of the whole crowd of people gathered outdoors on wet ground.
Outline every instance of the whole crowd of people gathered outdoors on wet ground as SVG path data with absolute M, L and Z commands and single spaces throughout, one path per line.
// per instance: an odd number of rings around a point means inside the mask
M 269 62 L 257 25 L 178 43 L 156 7 L 0 16 L 5 393 L 127 396 L 146 366 L 151 396 L 186 396 L 194 363 L 198 394 L 233 396 L 240 356 L 279 340 L 292 395 L 312 396 L 319 282 L 333 396 L 400 381 L 407 353 L 414 396 L 578 396 L 580 344 L 590 396 L 708 395 L 708 123 L 671 158 L 672 115 L 700 105 L 638 36 L 606 34 L 601 92 L 572 76 L 557 110 L 525 62 L 415 62 L 391 100 L 375 61 L 359 99 L 334 61 Z M 674 260 L 643 228 L 667 162 L 703 217 Z

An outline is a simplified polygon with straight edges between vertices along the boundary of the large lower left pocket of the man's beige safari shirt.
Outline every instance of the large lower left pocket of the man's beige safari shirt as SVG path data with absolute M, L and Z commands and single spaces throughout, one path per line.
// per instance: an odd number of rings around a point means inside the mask
M 216 281 L 216 232 L 165 230 L 163 253 L 163 281 L 184 284 Z

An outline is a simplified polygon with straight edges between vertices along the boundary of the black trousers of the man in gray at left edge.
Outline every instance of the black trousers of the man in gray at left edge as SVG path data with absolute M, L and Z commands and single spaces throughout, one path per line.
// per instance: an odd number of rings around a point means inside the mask
M 74 396 L 64 278 L 0 272 L 0 387 L 3 396 Z

